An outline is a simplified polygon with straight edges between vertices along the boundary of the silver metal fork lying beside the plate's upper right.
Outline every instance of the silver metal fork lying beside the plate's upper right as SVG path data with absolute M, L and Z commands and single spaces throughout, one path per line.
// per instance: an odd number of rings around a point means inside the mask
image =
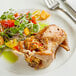
M 58 1 L 56 1 L 56 0 L 44 0 L 44 1 L 49 9 L 61 10 L 62 12 L 64 12 L 68 17 L 70 17 L 76 23 L 76 19 L 71 14 L 69 14 L 64 9 L 60 8 L 60 3 Z

